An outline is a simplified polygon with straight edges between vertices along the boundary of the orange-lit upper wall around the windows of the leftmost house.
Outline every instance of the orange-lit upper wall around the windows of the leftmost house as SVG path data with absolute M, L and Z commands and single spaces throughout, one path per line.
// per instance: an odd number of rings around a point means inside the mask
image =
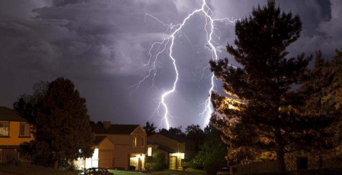
M 2 122 L 2 121 L 1 121 Z M 8 121 L 3 121 L 8 122 Z M 20 122 L 10 121 L 9 122 L 9 137 L 0 137 L 0 146 L 19 146 L 23 142 L 30 142 L 33 140 L 33 135 L 31 137 L 19 137 L 20 132 Z

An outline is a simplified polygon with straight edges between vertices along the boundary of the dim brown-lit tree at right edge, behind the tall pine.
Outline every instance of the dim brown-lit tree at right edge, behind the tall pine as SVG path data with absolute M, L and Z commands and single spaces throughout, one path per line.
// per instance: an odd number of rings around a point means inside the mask
M 341 143 L 339 120 L 341 112 L 336 109 L 337 101 L 331 93 L 338 90 L 337 72 L 329 61 L 322 58 L 320 51 L 316 52 L 314 68 L 308 71 L 308 79 L 298 89 L 303 93 L 305 104 L 300 108 L 303 116 L 310 117 L 317 129 L 306 130 L 311 135 L 303 138 L 306 144 L 318 157 L 317 168 L 322 168 L 323 158 L 331 158 L 330 152 Z M 316 125 L 314 125 L 316 124 Z M 310 144 L 307 144 L 307 143 Z

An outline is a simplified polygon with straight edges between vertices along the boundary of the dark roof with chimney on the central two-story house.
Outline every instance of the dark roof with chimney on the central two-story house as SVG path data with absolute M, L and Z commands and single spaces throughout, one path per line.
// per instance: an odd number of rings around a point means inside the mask
M 138 126 L 138 124 L 111 124 L 105 129 L 100 124 L 91 125 L 95 134 L 131 134 Z

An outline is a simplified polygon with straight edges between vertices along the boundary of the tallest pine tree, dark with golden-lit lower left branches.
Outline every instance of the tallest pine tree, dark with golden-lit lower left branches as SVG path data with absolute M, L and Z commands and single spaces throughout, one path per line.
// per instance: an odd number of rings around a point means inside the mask
M 276 153 L 280 171 L 285 171 L 284 155 L 317 143 L 313 139 L 318 131 L 330 126 L 330 117 L 303 114 L 301 108 L 311 94 L 294 90 L 307 81 L 312 59 L 304 54 L 286 58 L 286 48 L 300 37 L 301 30 L 298 15 L 281 12 L 269 0 L 236 23 L 236 48 L 228 45 L 227 51 L 242 68 L 229 66 L 227 58 L 210 62 L 227 93 L 227 97 L 212 94 L 212 122 L 235 148 L 229 155 L 235 160 L 231 164 L 244 160 L 242 152 L 271 151 Z M 252 159 L 251 155 L 245 158 Z

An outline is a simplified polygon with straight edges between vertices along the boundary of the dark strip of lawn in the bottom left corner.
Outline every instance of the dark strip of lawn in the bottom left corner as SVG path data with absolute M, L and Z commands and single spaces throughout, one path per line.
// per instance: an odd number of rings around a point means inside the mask
M 69 172 L 62 170 L 54 170 L 52 168 L 41 167 L 37 165 L 0 165 L 1 172 L 13 173 L 17 175 L 77 175 L 80 172 Z

